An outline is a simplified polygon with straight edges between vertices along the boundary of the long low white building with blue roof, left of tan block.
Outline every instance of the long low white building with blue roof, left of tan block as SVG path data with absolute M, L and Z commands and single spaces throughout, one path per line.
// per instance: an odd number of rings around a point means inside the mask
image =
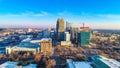
M 31 39 L 27 38 L 23 40 L 19 45 L 6 47 L 6 54 L 11 54 L 12 52 L 16 52 L 16 51 L 39 52 L 40 44 L 31 43 L 30 41 Z

